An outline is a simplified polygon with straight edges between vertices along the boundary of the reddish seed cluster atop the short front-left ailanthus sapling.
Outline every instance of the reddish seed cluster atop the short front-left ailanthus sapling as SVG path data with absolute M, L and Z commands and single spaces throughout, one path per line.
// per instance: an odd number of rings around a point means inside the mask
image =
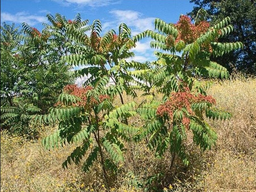
M 73 106 L 86 107 L 88 106 L 87 97 L 86 97 L 86 93 L 88 90 L 92 90 L 92 87 L 91 86 L 78 87 L 77 85 L 73 84 L 73 85 L 65 86 L 63 89 L 63 92 L 77 96 L 81 99 L 81 101 L 74 103 Z M 100 95 L 99 96 L 100 103 L 108 98 L 109 98 L 108 95 Z M 95 98 L 91 98 L 89 106 L 94 104 L 98 104 L 98 101 Z M 59 106 L 59 105 L 61 105 L 60 102 L 57 102 L 55 104 L 55 106 Z

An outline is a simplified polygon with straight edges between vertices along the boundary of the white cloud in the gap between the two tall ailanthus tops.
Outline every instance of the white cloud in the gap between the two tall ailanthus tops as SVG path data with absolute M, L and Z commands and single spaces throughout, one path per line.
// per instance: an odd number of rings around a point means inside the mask
M 125 23 L 132 29 L 132 35 L 143 32 L 144 30 L 154 30 L 154 17 L 144 17 L 143 14 L 132 10 L 112 10 L 112 21 L 105 22 L 102 25 L 103 30 L 116 28 L 119 24 Z

